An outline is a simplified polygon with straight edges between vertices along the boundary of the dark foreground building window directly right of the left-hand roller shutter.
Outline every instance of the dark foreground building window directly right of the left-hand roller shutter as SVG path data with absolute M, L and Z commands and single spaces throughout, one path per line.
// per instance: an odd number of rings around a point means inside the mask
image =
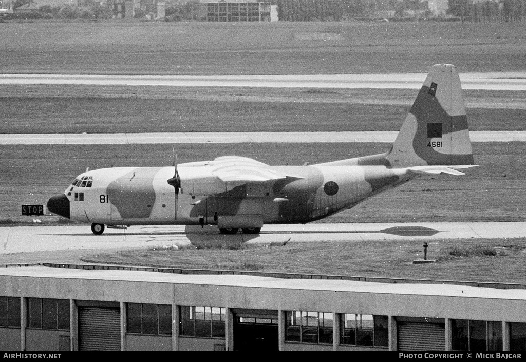
M 128 303 L 128 333 L 171 335 L 171 305 Z

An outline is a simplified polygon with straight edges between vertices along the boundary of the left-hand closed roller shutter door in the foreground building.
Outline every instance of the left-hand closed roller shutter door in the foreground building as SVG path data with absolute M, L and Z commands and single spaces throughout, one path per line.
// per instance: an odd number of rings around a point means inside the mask
M 118 308 L 78 308 L 79 350 L 120 350 Z

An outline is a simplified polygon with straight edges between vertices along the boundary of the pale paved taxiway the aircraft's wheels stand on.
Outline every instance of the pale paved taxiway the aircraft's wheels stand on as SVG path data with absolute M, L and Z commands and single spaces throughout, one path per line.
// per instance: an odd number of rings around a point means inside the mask
M 526 237 L 517 223 L 379 223 L 265 225 L 259 235 L 221 235 L 216 227 L 132 226 L 94 235 L 89 225 L 0 227 L 0 255 L 82 250 L 198 245 L 199 243 L 330 243 L 383 240 L 480 239 Z

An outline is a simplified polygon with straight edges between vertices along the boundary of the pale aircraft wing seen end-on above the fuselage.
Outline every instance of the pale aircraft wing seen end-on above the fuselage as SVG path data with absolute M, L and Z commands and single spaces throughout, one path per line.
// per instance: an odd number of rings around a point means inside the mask
M 222 182 L 265 182 L 286 178 L 269 165 L 248 157 L 222 156 L 210 163 L 212 174 Z

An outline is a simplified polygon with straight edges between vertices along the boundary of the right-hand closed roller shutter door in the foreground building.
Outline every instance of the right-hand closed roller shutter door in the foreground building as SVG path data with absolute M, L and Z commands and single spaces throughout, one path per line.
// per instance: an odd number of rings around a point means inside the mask
M 446 327 L 443 324 L 399 322 L 398 350 L 445 350 Z

